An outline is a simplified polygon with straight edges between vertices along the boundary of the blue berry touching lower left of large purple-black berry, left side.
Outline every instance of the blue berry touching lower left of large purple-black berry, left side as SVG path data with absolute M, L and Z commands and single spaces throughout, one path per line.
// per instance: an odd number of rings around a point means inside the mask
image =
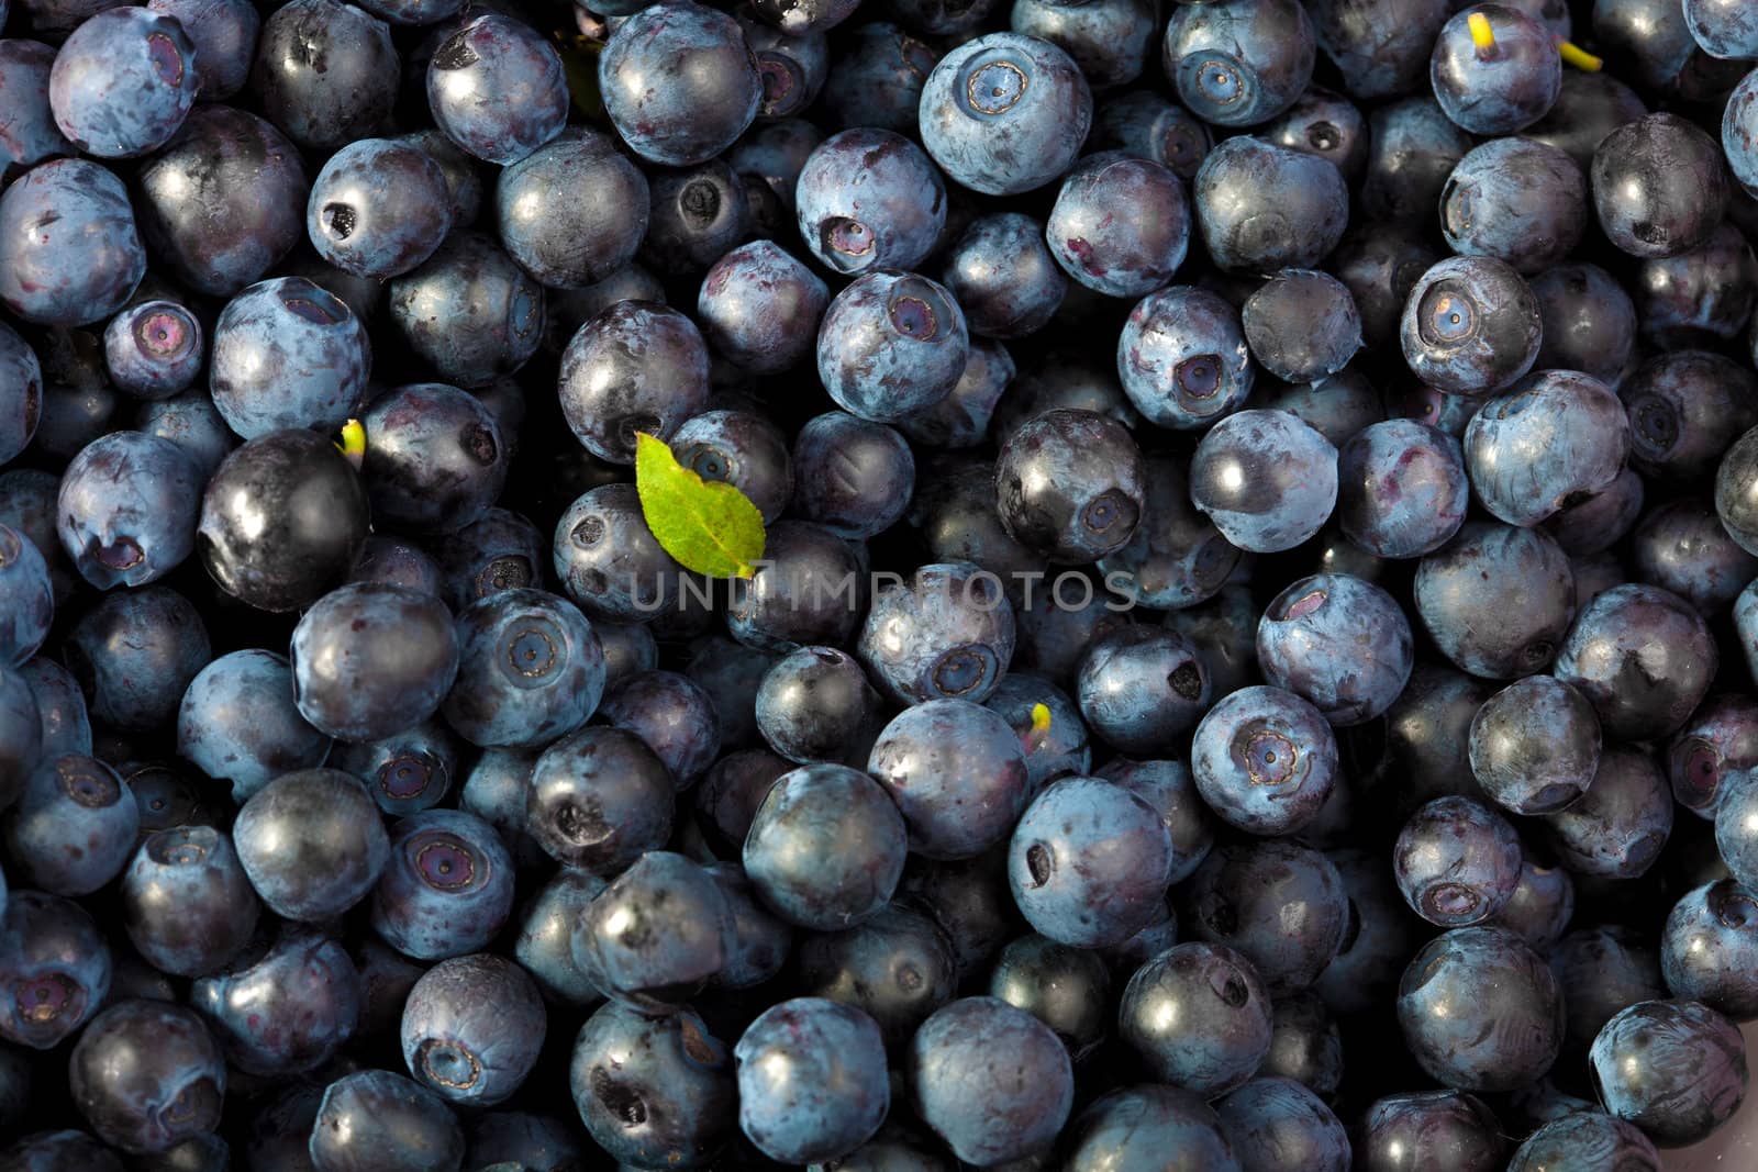
M 178 754 L 207 777 L 232 782 L 244 801 L 281 773 L 323 764 L 331 738 L 306 724 L 294 701 L 294 673 L 272 652 L 214 659 L 183 692 Z

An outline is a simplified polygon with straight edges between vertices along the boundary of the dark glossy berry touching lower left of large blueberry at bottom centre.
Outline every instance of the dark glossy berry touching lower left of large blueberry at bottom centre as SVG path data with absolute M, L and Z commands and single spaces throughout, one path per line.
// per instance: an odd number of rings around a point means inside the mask
M 573 930 L 573 959 L 612 998 L 670 1014 L 737 944 L 723 887 L 682 854 L 649 850 L 592 900 Z

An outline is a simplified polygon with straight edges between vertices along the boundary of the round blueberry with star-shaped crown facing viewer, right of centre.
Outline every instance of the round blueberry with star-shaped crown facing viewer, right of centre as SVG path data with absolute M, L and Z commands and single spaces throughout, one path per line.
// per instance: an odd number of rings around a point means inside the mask
M 1218 701 L 1190 742 L 1202 801 L 1250 835 L 1292 835 L 1318 817 L 1338 768 L 1324 713 L 1280 687 L 1246 687 Z

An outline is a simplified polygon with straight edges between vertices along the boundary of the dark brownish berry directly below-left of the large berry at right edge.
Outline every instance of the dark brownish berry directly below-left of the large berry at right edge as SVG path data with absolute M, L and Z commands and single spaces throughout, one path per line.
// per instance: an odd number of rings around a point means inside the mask
M 1593 784 L 1600 720 L 1587 698 L 1549 675 L 1491 696 L 1471 719 L 1471 775 L 1514 814 L 1554 814 Z

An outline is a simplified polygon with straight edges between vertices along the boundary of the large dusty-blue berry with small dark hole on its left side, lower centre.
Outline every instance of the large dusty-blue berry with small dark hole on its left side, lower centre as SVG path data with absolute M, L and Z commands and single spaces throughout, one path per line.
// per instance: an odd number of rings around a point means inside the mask
M 1051 782 L 1007 847 L 1007 880 L 1032 928 L 1088 949 L 1118 945 L 1164 917 L 1171 865 L 1159 812 L 1097 777 Z

